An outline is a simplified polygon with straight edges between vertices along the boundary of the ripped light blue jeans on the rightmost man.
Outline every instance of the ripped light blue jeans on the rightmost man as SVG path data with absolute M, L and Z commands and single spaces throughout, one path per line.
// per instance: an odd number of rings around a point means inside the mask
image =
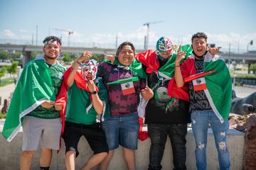
M 192 111 L 191 124 L 193 135 L 196 140 L 196 167 L 206 169 L 206 145 L 208 124 L 213 130 L 215 146 L 218 150 L 218 162 L 220 169 L 230 169 L 230 154 L 227 146 L 227 132 L 229 128 L 228 120 L 220 123 L 220 120 L 212 110 Z

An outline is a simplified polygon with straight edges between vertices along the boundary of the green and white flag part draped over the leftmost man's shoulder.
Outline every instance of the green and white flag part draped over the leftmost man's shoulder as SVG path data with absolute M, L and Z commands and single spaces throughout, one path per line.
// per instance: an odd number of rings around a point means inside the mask
M 4 123 L 2 132 L 4 138 L 11 142 L 21 128 L 23 117 L 34 111 L 44 101 L 58 103 L 49 66 L 44 58 L 40 58 L 28 62 L 23 68 Z

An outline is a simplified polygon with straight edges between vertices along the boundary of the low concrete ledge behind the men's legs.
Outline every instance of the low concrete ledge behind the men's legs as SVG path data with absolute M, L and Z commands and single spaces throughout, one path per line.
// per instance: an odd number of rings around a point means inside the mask
M 0 128 L 1 133 L 1 128 Z M 245 134 L 237 130 L 228 131 L 228 148 L 230 151 L 231 158 L 231 169 L 243 169 L 243 159 L 244 159 L 244 145 L 245 145 Z M 187 139 L 187 169 L 196 169 L 196 158 L 194 154 L 195 141 L 193 138 L 193 133 L 191 129 L 188 129 Z M 19 156 L 21 154 L 22 147 L 22 132 L 18 132 L 18 135 L 13 141 L 7 142 L 4 137 L 0 134 L 0 167 L 3 170 L 16 170 L 19 167 Z M 136 151 L 137 159 L 137 169 L 147 169 L 149 164 L 149 148 L 150 140 L 147 139 L 144 142 L 139 141 L 138 149 Z M 90 146 L 87 144 L 85 137 L 81 137 L 80 143 L 78 145 L 80 155 L 76 159 L 76 169 L 81 169 L 83 164 L 92 155 Z M 33 165 L 31 169 L 38 169 L 39 166 L 39 150 L 36 152 Z M 65 145 L 62 141 L 62 148 L 59 154 L 53 153 L 53 159 L 50 166 L 51 170 L 65 169 Z M 215 149 L 214 137 L 211 130 L 208 130 L 208 147 L 207 147 L 207 162 L 208 169 L 218 169 L 218 153 Z M 164 157 L 161 162 L 163 169 L 173 169 L 172 164 L 172 150 L 171 142 L 168 139 L 166 142 L 166 149 L 164 151 Z M 110 170 L 122 170 L 127 169 L 127 166 L 122 158 L 122 148 L 119 147 L 115 152 L 110 162 Z

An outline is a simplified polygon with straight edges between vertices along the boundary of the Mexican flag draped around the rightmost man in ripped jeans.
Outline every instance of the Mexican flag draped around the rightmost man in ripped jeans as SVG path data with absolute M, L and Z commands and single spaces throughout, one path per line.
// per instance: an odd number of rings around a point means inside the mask
M 183 79 L 196 74 L 194 65 L 195 56 L 192 54 L 181 64 Z M 203 91 L 205 91 L 214 113 L 218 116 L 220 121 L 223 122 L 228 118 L 232 101 L 232 82 L 228 67 L 225 64 L 223 57 L 220 57 L 219 55 L 213 57 L 207 52 L 203 62 L 203 72 L 210 72 L 210 74 L 206 74 L 203 77 L 203 80 L 206 82 L 206 89 Z M 187 85 L 185 84 L 184 86 Z M 176 93 L 174 93 L 174 91 L 176 91 Z M 186 95 L 179 96 L 180 93 L 177 93 L 177 91 Z M 183 97 L 189 101 L 188 88 L 178 88 L 175 80 L 169 82 L 169 95 L 176 98 Z

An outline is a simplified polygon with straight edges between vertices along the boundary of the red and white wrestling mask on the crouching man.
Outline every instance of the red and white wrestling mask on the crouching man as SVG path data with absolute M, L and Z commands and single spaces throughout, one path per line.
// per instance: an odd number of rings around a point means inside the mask
M 81 65 L 81 75 L 82 78 L 86 81 L 95 80 L 97 74 L 97 61 L 96 60 L 87 60 Z

